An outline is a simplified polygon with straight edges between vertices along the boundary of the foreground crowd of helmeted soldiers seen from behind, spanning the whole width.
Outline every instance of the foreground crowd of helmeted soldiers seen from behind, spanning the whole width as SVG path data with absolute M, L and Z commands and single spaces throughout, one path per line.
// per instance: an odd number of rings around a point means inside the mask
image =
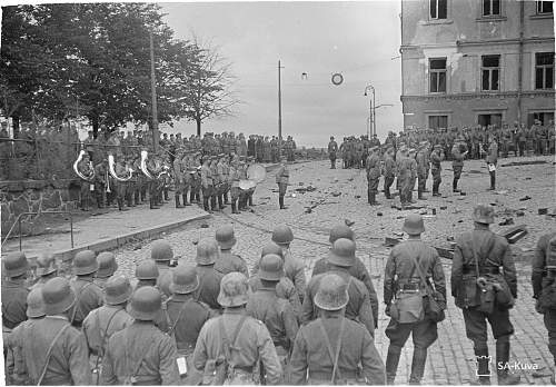
M 490 384 L 490 325 L 497 381 L 518 384 L 505 367 L 517 298 L 510 247 L 489 229 L 492 207 L 476 206 L 471 219 L 473 230 L 456 239 L 451 296 L 473 341 L 476 381 Z M 82 250 L 64 262 L 42 255 L 32 269 L 23 252 L 8 254 L 1 294 L 7 384 L 394 384 L 409 335 L 407 381 L 419 384 L 445 319 L 447 289 L 436 249 L 420 238 L 423 218 L 408 215 L 403 230 L 408 238 L 391 249 L 384 274 L 369 274 L 354 231 L 334 227 L 329 252 L 316 257 L 309 279 L 285 225 L 261 244 L 252 268 L 234 252 L 229 225 L 197 242 L 195 266 L 166 240 L 153 241 L 132 279 L 117 272 L 111 252 Z M 384 275 L 390 317 L 385 361 L 374 344 L 381 327 L 371 275 Z M 556 364 L 556 232 L 538 240 L 532 281 Z

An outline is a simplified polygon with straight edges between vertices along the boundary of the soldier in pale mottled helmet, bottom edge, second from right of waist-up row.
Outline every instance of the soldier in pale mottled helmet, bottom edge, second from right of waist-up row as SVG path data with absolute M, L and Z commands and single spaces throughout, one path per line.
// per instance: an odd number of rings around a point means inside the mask
M 267 385 L 281 381 L 282 369 L 267 327 L 245 312 L 248 302 L 247 278 L 240 272 L 227 274 L 220 284 L 218 302 L 224 315 L 212 318 L 202 327 L 193 353 L 193 365 L 205 376 L 215 375 L 216 361 L 228 360 L 225 380 L 217 384 L 258 384 L 262 364 Z

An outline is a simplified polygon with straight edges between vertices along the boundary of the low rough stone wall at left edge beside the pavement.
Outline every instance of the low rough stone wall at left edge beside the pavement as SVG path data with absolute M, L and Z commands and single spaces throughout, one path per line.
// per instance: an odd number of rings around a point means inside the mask
M 73 210 L 79 200 L 79 180 L 19 180 L 0 181 L 1 230 L 4 237 L 22 212 Z M 48 218 L 29 215 L 22 218 L 21 234 L 44 231 Z M 18 225 L 11 236 L 18 236 Z

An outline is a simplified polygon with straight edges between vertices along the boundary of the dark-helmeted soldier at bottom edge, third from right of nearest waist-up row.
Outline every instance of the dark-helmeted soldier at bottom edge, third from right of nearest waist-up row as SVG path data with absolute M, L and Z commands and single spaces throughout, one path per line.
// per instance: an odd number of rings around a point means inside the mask
M 133 322 L 108 339 L 101 385 L 178 385 L 176 344 L 155 326 L 162 299 L 158 289 L 133 292 L 129 314 Z

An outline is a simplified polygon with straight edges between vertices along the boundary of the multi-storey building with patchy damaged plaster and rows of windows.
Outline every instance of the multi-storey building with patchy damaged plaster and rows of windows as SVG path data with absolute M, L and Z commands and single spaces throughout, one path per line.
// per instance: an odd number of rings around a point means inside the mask
M 552 1 L 401 0 L 405 128 L 554 120 Z

